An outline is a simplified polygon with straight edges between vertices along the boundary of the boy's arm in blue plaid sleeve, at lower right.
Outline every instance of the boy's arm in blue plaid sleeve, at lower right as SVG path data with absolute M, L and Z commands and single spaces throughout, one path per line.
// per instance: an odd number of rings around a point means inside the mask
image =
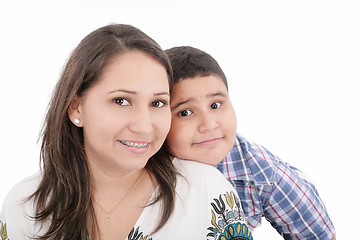
M 334 226 L 315 186 L 294 167 L 279 162 L 264 214 L 286 239 L 336 239 Z

